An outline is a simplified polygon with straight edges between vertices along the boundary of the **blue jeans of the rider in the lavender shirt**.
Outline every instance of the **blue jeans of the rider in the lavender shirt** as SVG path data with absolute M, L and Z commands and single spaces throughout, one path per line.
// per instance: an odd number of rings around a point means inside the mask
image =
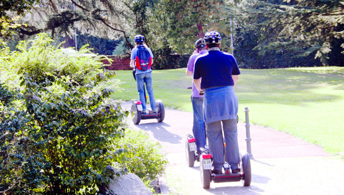
M 194 111 L 194 124 L 192 133 L 196 139 L 197 153 L 201 154 L 200 148 L 205 145 L 205 123 L 203 119 L 203 98 L 191 97 L 192 109 Z

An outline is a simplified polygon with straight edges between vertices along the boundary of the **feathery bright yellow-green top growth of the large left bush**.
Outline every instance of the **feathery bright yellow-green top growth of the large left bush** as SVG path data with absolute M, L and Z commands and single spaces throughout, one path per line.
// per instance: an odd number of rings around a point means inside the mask
M 78 52 L 66 54 L 53 46 L 52 41 L 54 40 L 47 34 L 42 33 L 35 39 L 20 41 L 17 45 L 19 51 L 10 53 L 8 48 L 4 47 L 1 56 L 6 61 L 0 65 L 0 70 L 4 70 L 2 80 L 18 82 L 19 76 L 15 73 L 24 70 L 37 82 L 44 82 L 46 78 L 53 81 L 55 77 L 69 76 L 77 83 L 85 84 L 94 72 L 101 71 L 103 66 L 101 60 L 107 59 L 105 56 L 92 54 L 92 57 L 87 56 L 92 53 L 91 49 L 86 47 L 87 45 Z

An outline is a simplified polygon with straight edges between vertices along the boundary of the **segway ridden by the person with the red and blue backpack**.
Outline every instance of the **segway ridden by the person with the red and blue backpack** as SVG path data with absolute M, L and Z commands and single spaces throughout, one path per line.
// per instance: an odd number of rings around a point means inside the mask
M 136 69 L 133 70 L 133 76 L 136 80 L 135 71 Z M 143 83 L 143 91 L 144 91 L 144 100 L 147 102 L 146 89 L 144 87 L 144 83 Z M 158 108 L 157 113 L 154 113 L 152 112 L 152 110 L 149 110 L 147 108 L 146 109 L 149 111 L 149 113 L 143 113 L 142 101 L 137 100 L 137 99 L 132 99 L 131 101 L 133 102 L 133 104 L 131 105 L 131 111 L 133 111 L 134 113 L 134 117 L 133 117 L 134 124 L 139 124 L 141 120 L 152 119 L 152 118 L 156 118 L 158 122 L 162 122 L 163 119 L 165 118 L 165 108 L 161 100 L 158 99 L 155 101 L 155 104 Z

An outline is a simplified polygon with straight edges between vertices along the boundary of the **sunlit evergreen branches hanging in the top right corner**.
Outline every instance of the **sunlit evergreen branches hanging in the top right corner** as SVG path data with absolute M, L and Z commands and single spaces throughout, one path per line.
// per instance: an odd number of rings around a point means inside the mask
M 331 43 L 344 39 L 343 8 L 343 0 L 246 0 L 237 13 L 241 26 L 259 35 L 259 55 L 315 53 L 327 65 Z

